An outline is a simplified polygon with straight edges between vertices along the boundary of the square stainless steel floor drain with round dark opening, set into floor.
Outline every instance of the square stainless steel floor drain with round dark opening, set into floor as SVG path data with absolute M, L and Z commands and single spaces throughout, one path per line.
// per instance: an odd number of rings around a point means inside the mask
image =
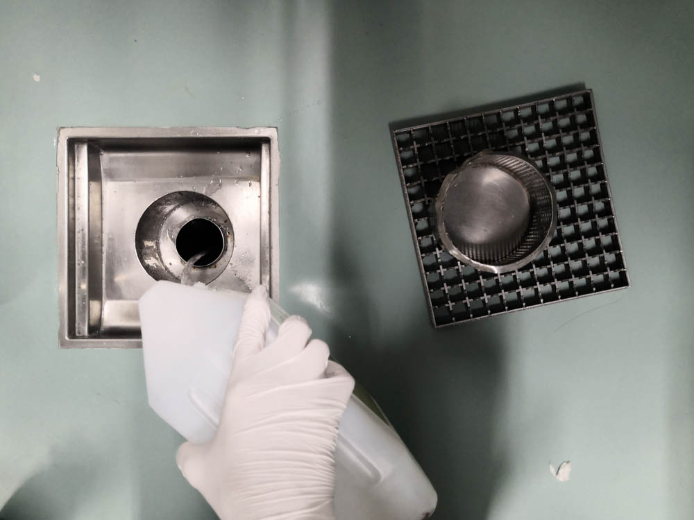
M 158 279 L 279 297 L 275 128 L 61 128 L 61 347 L 139 347 Z

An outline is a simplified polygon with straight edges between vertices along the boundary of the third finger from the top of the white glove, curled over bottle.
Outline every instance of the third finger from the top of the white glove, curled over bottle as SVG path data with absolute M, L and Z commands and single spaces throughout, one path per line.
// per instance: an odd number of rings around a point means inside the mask
M 266 388 L 321 379 L 325 374 L 329 356 L 330 349 L 324 341 L 311 340 L 296 356 L 256 372 L 248 381 Z

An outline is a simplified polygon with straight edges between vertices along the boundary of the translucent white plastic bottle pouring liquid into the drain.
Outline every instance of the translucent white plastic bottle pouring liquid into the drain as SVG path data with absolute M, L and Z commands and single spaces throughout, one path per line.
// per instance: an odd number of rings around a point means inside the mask
M 158 281 L 139 301 L 149 404 L 189 441 L 207 442 L 217 429 L 245 300 Z M 286 317 L 271 310 L 268 340 Z M 420 520 L 436 507 L 429 479 L 368 395 L 347 404 L 335 464 L 337 520 Z

